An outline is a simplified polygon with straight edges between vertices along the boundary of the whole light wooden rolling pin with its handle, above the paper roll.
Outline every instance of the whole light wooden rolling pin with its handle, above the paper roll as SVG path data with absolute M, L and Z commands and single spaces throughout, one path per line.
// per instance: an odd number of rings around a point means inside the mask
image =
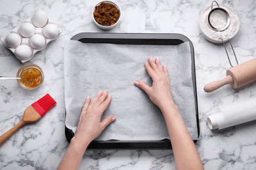
M 256 80 L 256 58 L 246 61 L 226 71 L 226 77 L 222 80 L 210 82 L 203 88 L 205 92 L 213 92 L 226 84 L 238 89 Z

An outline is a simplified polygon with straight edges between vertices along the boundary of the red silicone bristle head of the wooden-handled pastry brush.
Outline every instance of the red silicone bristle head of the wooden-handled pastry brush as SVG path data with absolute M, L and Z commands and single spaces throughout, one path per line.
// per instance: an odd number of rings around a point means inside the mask
M 32 104 L 32 107 L 43 116 L 48 110 L 54 107 L 54 105 L 56 105 L 56 101 L 54 101 L 51 95 L 47 94 L 38 101 L 35 101 L 35 103 Z

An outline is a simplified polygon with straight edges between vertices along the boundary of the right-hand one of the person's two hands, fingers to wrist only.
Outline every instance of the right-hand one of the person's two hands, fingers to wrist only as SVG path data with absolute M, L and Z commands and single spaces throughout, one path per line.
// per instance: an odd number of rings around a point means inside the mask
M 170 80 L 166 66 L 162 66 L 158 58 L 154 61 L 150 57 L 148 62 L 145 63 L 145 67 L 148 75 L 153 80 L 152 87 L 141 80 L 136 80 L 135 85 L 144 90 L 148 97 L 150 97 L 150 100 L 161 110 L 166 105 L 175 105 L 171 95 Z

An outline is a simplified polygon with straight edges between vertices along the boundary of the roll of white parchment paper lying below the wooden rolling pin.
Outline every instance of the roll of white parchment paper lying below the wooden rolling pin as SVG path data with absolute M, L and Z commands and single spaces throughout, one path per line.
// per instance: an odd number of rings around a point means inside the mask
M 216 113 L 207 117 L 210 129 L 224 129 L 252 120 L 256 120 L 256 99 L 217 107 Z

